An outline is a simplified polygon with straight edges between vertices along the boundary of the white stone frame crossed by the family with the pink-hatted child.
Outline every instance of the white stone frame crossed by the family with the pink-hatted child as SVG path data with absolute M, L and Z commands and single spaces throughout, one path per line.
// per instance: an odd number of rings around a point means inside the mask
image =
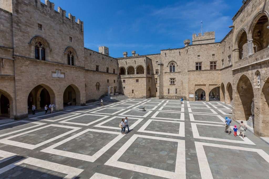
M 239 143 L 239 144 L 250 144 L 250 145 L 256 145 L 254 144 L 249 138 L 242 138 L 241 136 L 237 136 L 241 138 L 243 141 L 238 141 L 238 140 L 231 140 L 231 139 L 222 139 L 222 138 L 213 138 L 213 137 L 202 137 L 199 135 L 197 125 L 205 125 L 205 126 L 218 126 L 222 127 L 223 131 L 225 129 L 225 125 L 215 125 L 215 124 L 202 124 L 202 123 L 191 123 L 192 125 L 192 133 L 193 133 L 193 138 L 200 138 L 200 139 L 205 139 L 205 140 L 215 140 L 215 141 L 222 141 L 222 142 L 233 142 L 233 143 Z M 228 135 L 228 134 L 227 134 Z

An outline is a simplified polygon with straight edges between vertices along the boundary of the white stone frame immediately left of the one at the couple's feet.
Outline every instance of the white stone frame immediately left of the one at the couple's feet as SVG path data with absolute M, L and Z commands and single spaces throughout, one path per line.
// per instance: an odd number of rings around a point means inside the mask
M 14 137 L 18 137 L 18 136 L 22 136 L 24 134 L 28 134 L 28 133 L 31 133 L 33 131 L 37 131 L 37 130 L 40 130 L 40 129 L 44 129 L 46 127 L 50 127 L 50 126 L 54 126 L 54 127 L 63 127 L 63 128 L 69 128 L 69 129 L 73 129 L 73 130 L 70 130 L 68 132 L 65 132 L 59 136 L 56 136 L 56 137 L 53 137 L 49 140 L 46 140 L 44 142 L 41 142 L 39 144 L 36 144 L 36 145 L 32 145 L 32 144 L 26 144 L 26 143 L 22 143 L 22 142 L 17 142 L 17 141 L 12 141 L 12 140 L 9 140 L 11 138 L 14 138 Z M 70 134 L 76 130 L 79 130 L 81 129 L 81 127 L 72 127 L 72 126 L 62 126 L 62 125 L 56 125 L 56 124 L 50 124 L 50 125 L 47 125 L 47 126 L 43 126 L 43 127 L 39 127 L 37 129 L 33 129 L 33 130 L 30 130 L 30 131 L 26 131 L 26 132 L 23 132 L 23 133 L 19 133 L 17 135 L 14 135 L 14 136 L 10 136 L 10 137 L 7 137 L 7 138 L 3 138 L 3 139 L 0 139 L 0 143 L 3 143 L 3 144 L 8 144 L 8 145 L 14 145 L 14 146 L 17 146 L 17 147 L 22 147 L 22 148 L 27 148 L 27 149 L 35 149 L 37 147 L 40 147 L 41 145 L 44 145 L 44 144 L 47 144 L 51 141 L 54 141 L 58 138 L 61 138 L 63 136 L 66 136 L 67 134 Z

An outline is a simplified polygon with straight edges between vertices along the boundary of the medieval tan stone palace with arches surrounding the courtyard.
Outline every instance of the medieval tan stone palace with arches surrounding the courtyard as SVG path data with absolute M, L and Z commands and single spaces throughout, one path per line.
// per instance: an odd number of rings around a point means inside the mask
M 84 48 L 83 22 L 54 3 L 0 0 L 0 108 L 11 119 L 33 104 L 84 105 L 115 93 L 133 98 L 222 101 L 233 120 L 253 120 L 269 136 L 269 1 L 246 0 L 221 42 L 193 34 L 185 47 L 109 57 Z M 227 27 L 228 28 L 228 27 Z

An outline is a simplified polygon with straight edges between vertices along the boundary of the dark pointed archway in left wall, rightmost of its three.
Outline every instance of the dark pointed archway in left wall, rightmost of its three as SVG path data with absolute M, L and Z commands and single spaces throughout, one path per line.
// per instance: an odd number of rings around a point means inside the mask
M 63 92 L 63 105 L 67 105 L 70 101 L 70 105 L 80 105 L 80 90 L 74 84 L 67 86 Z

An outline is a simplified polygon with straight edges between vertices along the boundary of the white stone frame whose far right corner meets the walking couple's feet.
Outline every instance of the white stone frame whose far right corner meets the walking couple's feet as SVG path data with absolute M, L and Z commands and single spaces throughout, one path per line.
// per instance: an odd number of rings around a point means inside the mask
M 88 131 L 99 132 L 99 133 L 117 134 L 118 136 L 115 137 L 112 141 L 110 141 L 107 145 L 105 145 L 103 148 L 101 148 L 99 151 L 97 151 L 92 156 L 54 149 L 55 147 L 58 147 L 59 145 L 62 145 L 64 143 L 72 140 L 73 138 L 76 138 L 76 137 L 78 137 L 78 136 L 80 136 Z M 77 134 L 75 134 L 75 135 L 73 135 L 65 140 L 62 140 L 61 142 L 58 142 L 54 145 L 51 145 L 51 146 L 41 150 L 41 152 L 47 152 L 49 154 L 61 155 L 61 156 L 70 157 L 70 158 L 79 159 L 79 160 L 85 160 L 88 162 L 94 162 L 101 155 L 103 155 L 110 147 L 112 147 L 115 143 L 117 143 L 123 136 L 124 135 L 122 135 L 119 132 L 96 130 L 96 129 L 86 129 L 86 130 L 84 130 L 80 133 L 77 133 Z

